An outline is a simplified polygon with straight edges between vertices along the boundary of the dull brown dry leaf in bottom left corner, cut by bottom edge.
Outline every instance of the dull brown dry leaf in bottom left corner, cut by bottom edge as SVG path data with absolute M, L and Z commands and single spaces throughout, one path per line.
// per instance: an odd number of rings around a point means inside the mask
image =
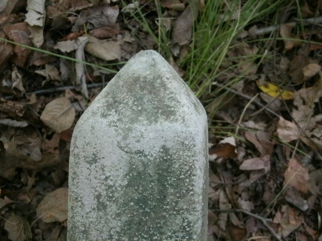
M 24 221 L 22 217 L 13 212 L 6 220 L 5 229 L 8 232 L 8 238 L 12 241 L 23 241 L 26 239 Z

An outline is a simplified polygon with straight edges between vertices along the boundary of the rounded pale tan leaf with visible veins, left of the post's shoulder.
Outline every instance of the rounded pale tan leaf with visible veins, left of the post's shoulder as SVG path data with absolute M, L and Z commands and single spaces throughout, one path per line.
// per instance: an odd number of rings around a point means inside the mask
M 70 128 L 74 118 L 75 109 L 65 97 L 50 101 L 40 116 L 41 121 L 57 133 Z

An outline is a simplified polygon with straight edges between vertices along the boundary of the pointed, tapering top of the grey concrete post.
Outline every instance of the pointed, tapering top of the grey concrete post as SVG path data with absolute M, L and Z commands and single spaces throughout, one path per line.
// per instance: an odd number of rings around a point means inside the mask
M 95 103 L 100 101 L 105 105 L 107 99 L 118 102 L 117 111 L 126 110 L 124 116 L 135 116 L 139 123 L 179 122 L 180 119 L 184 125 L 194 126 L 199 125 L 195 122 L 200 122 L 200 118 L 205 125 L 207 122 L 206 112 L 192 90 L 154 50 L 135 54 L 97 96 Z M 100 112 L 105 116 L 110 110 L 100 109 Z

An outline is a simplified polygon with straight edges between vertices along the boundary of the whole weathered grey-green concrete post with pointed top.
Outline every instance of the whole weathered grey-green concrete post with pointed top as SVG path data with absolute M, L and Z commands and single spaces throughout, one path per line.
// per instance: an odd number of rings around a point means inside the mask
M 206 240 L 207 117 L 155 51 L 136 54 L 79 119 L 69 241 Z

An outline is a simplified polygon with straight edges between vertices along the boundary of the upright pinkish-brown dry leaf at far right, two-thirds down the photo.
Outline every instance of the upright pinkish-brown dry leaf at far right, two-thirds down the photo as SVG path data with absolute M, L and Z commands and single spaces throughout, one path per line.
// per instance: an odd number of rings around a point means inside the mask
M 295 158 L 290 159 L 284 173 L 284 185 L 287 184 L 305 194 L 307 193 L 308 180 L 308 170 Z

